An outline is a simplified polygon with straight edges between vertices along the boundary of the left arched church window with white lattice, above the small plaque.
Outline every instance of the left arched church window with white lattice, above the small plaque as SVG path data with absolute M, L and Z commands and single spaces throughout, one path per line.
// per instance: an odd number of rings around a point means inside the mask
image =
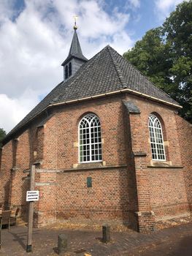
M 88 113 L 80 121 L 80 162 L 99 162 L 101 154 L 101 124 L 99 117 Z

